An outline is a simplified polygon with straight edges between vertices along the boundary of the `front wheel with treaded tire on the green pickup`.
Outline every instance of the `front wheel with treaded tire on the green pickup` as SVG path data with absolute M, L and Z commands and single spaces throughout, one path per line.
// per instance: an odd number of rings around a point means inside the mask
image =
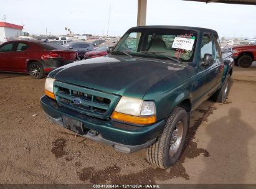
M 187 136 L 187 119 L 185 109 L 173 109 L 161 137 L 146 149 L 146 159 L 150 164 L 166 169 L 178 161 Z

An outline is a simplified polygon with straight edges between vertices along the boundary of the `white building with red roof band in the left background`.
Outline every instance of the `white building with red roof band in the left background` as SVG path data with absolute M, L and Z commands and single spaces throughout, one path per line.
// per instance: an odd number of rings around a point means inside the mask
M 22 35 L 22 25 L 0 22 L 0 42 L 6 42 L 9 37 Z

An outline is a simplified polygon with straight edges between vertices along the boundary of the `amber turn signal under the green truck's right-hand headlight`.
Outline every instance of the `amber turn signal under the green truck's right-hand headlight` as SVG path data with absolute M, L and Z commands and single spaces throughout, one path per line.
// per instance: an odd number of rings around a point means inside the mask
M 147 116 L 147 117 L 131 116 L 128 114 L 118 113 L 116 111 L 114 111 L 111 114 L 110 118 L 119 120 L 119 121 L 130 122 L 133 124 L 141 124 L 141 125 L 148 125 L 156 122 L 156 116 Z

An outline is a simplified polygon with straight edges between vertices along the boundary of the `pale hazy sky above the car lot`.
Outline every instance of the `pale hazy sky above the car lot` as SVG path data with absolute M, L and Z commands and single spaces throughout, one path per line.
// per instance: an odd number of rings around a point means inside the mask
M 29 34 L 123 35 L 136 26 L 137 0 L 8 0 L 0 6 L 0 21 L 24 24 Z M 111 11 L 110 11 L 111 7 Z M 110 22 L 108 27 L 108 16 Z M 148 0 L 146 25 L 187 25 L 217 30 L 220 37 L 256 35 L 256 6 Z

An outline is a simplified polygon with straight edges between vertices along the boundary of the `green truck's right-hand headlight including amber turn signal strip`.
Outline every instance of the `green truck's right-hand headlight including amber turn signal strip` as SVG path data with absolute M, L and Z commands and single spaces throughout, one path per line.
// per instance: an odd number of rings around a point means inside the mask
M 118 102 L 112 119 L 134 124 L 153 124 L 156 122 L 156 108 L 153 101 L 123 96 Z

